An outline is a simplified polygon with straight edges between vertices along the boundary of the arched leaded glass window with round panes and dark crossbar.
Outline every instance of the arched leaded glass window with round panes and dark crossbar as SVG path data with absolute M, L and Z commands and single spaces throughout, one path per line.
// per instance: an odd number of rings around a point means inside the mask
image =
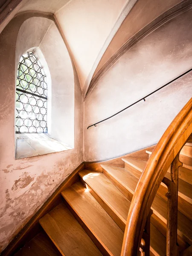
M 23 54 L 18 65 L 15 131 L 47 133 L 47 78 L 34 52 Z

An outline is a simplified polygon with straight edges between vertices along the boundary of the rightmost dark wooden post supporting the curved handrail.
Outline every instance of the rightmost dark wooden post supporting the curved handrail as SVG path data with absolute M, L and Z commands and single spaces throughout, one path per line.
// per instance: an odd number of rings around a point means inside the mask
M 178 201 L 178 169 L 182 166 L 179 161 L 179 153 L 171 165 L 171 179 L 163 179 L 168 187 L 166 197 L 168 198 L 167 208 L 167 235 L 166 235 L 166 256 L 178 256 L 179 247 L 177 244 L 177 201 Z

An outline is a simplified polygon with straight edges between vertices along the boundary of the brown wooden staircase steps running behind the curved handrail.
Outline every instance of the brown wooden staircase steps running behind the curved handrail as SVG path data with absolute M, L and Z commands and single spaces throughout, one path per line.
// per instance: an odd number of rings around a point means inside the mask
M 146 154 L 150 157 L 151 151 Z M 124 168 L 101 164 L 102 172 L 79 172 L 79 181 L 61 192 L 63 203 L 39 221 L 49 237 L 44 244 L 51 248 L 42 256 L 120 256 L 131 199 L 146 165 L 146 161 L 129 157 L 122 161 Z M 181 150 L 180 161 L 177 243 L 181 255 L 192 245 L 192 140 Z M 170 169 L 166 177 L 170 179 Z M 167 187 L 161 183 L 151 207 L 151 256 L 166 255 L 166 193 Z M 25 254 L 23 247 L 16 255 L 40 255 L 27 250 Z

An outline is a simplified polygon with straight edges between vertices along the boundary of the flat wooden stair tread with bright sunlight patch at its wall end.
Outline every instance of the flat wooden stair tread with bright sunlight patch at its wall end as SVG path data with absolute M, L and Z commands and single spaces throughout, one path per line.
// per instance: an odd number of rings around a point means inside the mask
M 79 175 L 126 224 L 131 202 L 122 192 L 101 172 L 83 170 Z

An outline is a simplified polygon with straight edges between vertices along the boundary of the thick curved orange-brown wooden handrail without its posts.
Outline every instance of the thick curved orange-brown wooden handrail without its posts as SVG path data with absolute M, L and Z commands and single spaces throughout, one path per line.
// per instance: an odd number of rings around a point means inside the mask
M 137 256 L 151 204 L 169 166 L 192 133 L 192 98 L 169 125 L 149 158 L 128 213 L 121 256 Z

